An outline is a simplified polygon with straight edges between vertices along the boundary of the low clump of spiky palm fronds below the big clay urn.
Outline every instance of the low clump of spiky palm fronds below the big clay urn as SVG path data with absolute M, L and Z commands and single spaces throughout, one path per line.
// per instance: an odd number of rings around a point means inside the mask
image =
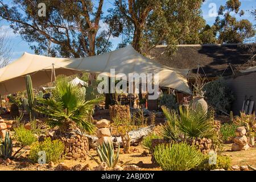
M 167 125 L 163 127 L 163 138 L 177 139 L 177 134 L 184 134 L 184 138 L 211 138 L 215 131 L 210 111 L 201 108 L 192 110 L 190 107 L 179 107 L 179 115 L 175 111 L 162 107 L 167 118 Z

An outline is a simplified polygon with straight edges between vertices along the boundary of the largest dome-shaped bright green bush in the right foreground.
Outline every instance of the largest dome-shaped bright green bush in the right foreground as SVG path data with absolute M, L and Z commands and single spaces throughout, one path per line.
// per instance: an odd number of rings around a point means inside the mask
M 154 157 L 164 171 L 187 171 L 204 159 L 200 151 L 186 143 L 160 144 L 155 147 Z

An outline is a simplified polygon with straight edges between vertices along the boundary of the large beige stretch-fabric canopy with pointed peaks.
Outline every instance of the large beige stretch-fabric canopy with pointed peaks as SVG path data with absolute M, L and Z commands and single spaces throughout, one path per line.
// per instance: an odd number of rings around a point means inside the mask
M 56 75 L 73 75 L 79 72 L 104 73 L 158 73 L 159 86 L 191 94 L 187 83 L 187 69 L 174 69 L 144 57 L 129 45 L 112 52 L 85 58 L 55 58 L 24 53 L 13 63 L 0 69 L 0 93 L 9 94 L 26 89 L 24 76 L 31 75 L 33 86 L 51 82 L 52 64 Z

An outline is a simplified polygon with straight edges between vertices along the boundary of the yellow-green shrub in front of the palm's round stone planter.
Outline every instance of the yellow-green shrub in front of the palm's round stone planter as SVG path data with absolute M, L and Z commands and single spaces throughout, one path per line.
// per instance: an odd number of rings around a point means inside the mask
M 31 146 L 29 159 L 33 162 L 38 162 L 39 151 L 46 152 L 46 163 L 52 162 L 59 162 L 63 159 L 63 152 L 65 146 L 64 143 L 60 140 L 51 140 L 51 138 L 46 138 L 43 142 L 35 142 Z

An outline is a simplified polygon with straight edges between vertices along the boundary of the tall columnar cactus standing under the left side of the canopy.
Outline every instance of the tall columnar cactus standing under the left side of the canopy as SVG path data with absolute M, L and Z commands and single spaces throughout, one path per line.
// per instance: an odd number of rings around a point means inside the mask
M 32 86 L 32 80 L 30 75 L 26 75 L 26 88 L 27 88 L 27 98 L 28 98 L 28 108 L 29 108 L 29 114 L 30 119 L 32 117 L 32 109 L 35 102 L 34 92 L 33 92 L 33 86 Z

